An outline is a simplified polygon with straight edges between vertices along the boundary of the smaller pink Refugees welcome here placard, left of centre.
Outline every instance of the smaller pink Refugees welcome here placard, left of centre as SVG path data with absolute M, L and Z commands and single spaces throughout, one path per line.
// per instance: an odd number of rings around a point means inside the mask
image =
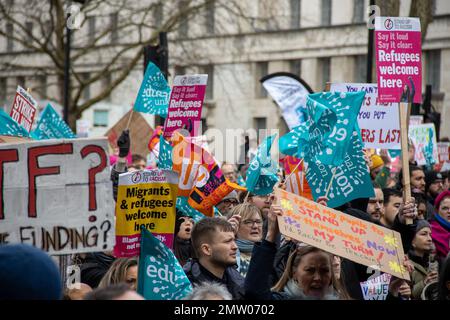
M 207 81 L 207 74 L 175 76 L 164 137 L 170 138 L 177 129 L 185 129 L 191 137 L 199 134 Z

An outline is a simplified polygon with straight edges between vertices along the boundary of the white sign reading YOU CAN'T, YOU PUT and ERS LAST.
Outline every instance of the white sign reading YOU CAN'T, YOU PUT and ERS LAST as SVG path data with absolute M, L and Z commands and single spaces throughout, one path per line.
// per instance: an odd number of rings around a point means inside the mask
M 366 93 L 357 119 L 364 148 L 401 149 L 398 103 L 378 103 L 376 84 L 333 83 L 330 91 Z

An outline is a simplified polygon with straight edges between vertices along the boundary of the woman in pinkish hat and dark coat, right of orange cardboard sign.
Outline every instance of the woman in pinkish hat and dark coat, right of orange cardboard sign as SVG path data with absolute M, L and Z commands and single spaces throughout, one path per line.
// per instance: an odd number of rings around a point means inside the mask
M 417 222 L 416 234 L 408 257 L 414 266 L 411 274 L 412 297 L 420 299 L 423 288 L 430 282 L 437 281 L 437 271 L 428 272 L 428 256 L 432 249 L 431 226 L 426 220 Z

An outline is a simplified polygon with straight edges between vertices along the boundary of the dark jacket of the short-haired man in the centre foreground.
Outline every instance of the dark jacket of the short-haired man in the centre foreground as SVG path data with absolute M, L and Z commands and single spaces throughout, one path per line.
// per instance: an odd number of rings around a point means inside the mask
M 234 300 L 242 300 L 244 298 L 244 278 L 234 267 L 226 268 L 222 279 L 209 272 L 197 259 L 190 259 L 184 265 L 183 270 L 193 285 L 200 285 L 207 281 L 218 282 L 227 287 Z

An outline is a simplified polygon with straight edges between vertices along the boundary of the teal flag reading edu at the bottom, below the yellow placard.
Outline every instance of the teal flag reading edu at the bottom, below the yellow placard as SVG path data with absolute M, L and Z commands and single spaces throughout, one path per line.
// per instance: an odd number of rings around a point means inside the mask
M 142 228 L 137 292 L 146 300 L 181 300 L 192 291 L 183 268 L 161 241 Z

